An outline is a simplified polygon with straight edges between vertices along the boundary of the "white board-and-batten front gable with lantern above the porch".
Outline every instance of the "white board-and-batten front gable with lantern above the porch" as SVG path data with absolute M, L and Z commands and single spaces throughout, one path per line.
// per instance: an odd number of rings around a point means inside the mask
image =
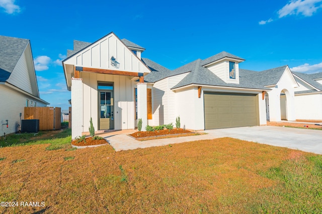
M 117 66 L 111 65 L 112 57 L 117 61 Z M 63 63 L 115 71 L 150 73 L 147 66 L 113 33 L 75 53 Z

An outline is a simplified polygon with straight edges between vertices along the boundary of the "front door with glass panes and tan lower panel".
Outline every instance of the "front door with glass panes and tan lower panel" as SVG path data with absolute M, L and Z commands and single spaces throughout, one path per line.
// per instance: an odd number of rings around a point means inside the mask
M 99 130 L 114 129 L 113 91 L 100 91 Z

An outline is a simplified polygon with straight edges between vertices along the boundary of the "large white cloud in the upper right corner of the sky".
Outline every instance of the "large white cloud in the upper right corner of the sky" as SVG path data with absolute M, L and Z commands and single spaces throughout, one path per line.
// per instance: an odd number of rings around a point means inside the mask
M 282 18 L 288 15 L 303 15 L 310 17 L 322 7 L 322 0 L 292 0 L 279 10 L 278 17 Z

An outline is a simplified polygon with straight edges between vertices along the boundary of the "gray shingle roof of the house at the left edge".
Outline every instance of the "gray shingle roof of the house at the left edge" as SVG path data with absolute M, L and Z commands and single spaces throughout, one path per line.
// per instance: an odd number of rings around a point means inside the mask
M 29 40 L 0 36 L 0 82 L 5 82 L 16 67 Z

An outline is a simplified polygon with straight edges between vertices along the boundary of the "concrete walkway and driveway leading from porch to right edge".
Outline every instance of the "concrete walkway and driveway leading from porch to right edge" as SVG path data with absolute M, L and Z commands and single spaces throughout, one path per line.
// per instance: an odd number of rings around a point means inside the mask
M 288 128 L 280 126 L 254 126 L 226 129 L 206 130 L 207 134 L 137 141 L 127 136 L 136 130 L 122 130 L 104 133 L 100 136 L 107 139 L 116 151 L 162 146 L 195 140 L 232 137 L 241 140 L 253 141 L 273 146 L 298 149 L 316 154 L 322 154 L 322 131 L 312 129 Z

